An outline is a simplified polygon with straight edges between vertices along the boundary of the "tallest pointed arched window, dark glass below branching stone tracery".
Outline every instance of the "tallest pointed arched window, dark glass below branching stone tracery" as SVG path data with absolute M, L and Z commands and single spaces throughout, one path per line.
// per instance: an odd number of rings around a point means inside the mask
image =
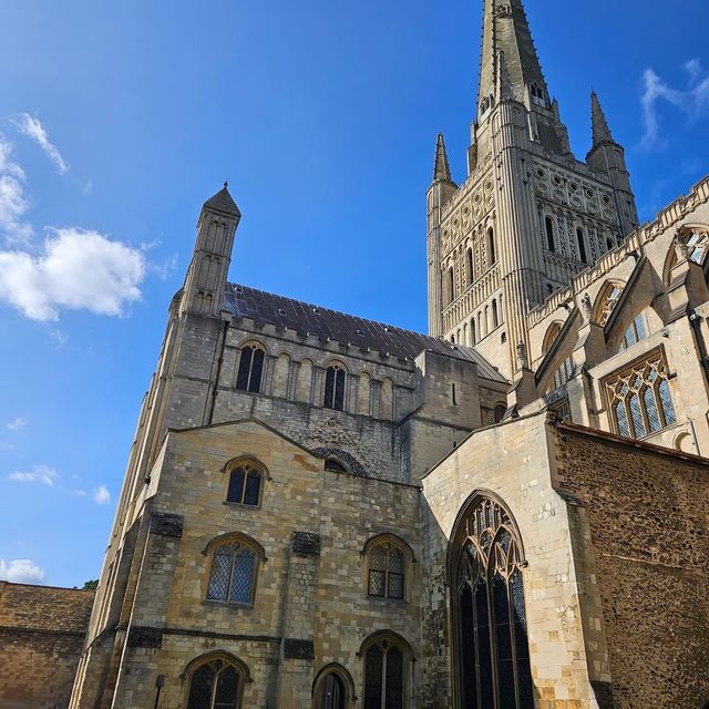
M 510 513 L 475 495 L 451 537 L 454 670 L 466 709 L 534 709 L 523 554 Z

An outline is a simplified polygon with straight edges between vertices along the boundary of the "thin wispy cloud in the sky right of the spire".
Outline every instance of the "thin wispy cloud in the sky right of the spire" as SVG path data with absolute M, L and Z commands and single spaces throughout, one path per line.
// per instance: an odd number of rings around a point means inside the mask
M 707 72 L 698 59 L 692 59 L 685 64 L 688 75 L 686 89 L 676 89 L 662 80 L 653 69 L 646 69 L 643 74 L 643 124 L 645 133 L 639 146 L 649 150 L 661 145 L 660 121 L 657 105 L 660 100 L 682 111 L 689 121 L 709 113 L 709 72 Z

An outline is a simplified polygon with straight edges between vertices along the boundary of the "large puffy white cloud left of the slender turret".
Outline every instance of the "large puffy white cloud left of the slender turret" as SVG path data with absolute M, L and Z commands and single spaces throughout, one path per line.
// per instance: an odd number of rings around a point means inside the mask
M 143 254 L 97 232 L 53 229 L 44 253 L 0 251 L 0 300 L 33 320 L 58 320 L 61 309 L 122 316 L 140 300 Z

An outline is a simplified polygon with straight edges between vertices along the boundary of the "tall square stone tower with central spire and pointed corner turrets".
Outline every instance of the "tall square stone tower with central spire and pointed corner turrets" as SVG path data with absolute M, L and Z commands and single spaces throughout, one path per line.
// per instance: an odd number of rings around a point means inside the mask
M 593 96 L 587 162 L 572 154 L 522 0 L 485 0 L 469 175 L 439 136 L 428 193 L 430 333 L 476 347 L 507 377 L 526 314 L 637 226 L 623 147 Z

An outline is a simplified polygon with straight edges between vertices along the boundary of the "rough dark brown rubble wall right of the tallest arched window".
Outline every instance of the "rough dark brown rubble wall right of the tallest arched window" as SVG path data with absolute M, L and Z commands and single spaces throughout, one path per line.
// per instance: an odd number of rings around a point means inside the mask
M 586 505 L 616 707 L 709 698 L 709 463 L 559 428 L 558 483 Z

